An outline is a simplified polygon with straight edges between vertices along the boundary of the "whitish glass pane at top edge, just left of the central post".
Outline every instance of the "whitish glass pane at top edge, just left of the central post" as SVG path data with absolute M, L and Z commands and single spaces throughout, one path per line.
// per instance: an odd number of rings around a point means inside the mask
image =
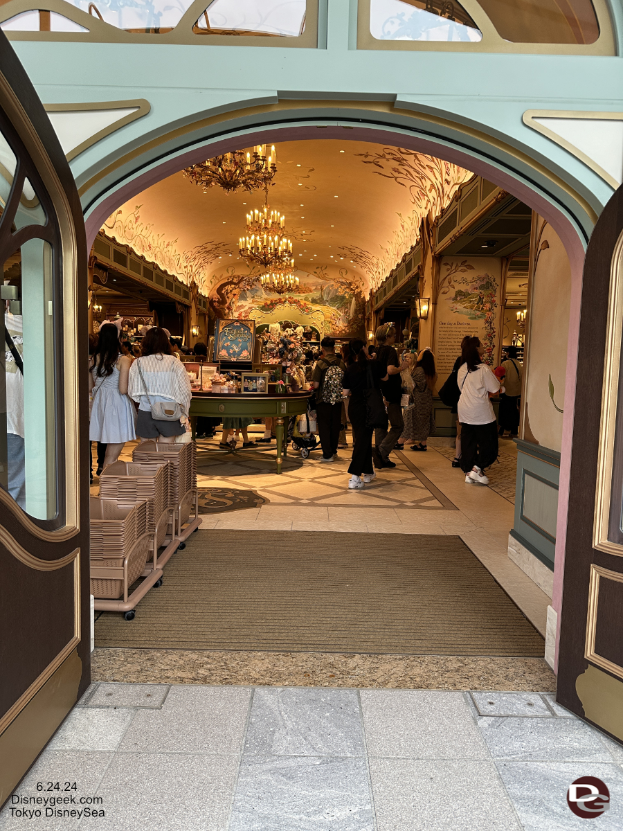
M 204 35 L 299 37 L 306 0 L 213 0 L 195 24 Z

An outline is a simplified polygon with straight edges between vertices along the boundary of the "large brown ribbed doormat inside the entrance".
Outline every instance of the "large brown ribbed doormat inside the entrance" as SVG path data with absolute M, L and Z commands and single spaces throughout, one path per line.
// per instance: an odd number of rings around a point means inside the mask
M 544 641 L 459 537 L 193 534 L 135 620 L 97 647 L 542 657 Z

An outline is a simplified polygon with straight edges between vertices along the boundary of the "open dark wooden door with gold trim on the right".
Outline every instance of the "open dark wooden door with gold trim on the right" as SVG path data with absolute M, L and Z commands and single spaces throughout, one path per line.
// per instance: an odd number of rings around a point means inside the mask
M 584 267 L 557 701 L 623 742 L 623 188 Z

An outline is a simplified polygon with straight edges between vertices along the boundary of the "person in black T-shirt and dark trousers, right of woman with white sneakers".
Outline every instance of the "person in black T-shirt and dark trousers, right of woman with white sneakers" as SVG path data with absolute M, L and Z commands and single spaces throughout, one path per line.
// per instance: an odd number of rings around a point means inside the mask
M 402 418 L 402 380 L 400 372 L 407 369 L 409 361 L 398 359 L 398 352 L 395 351 L 394 343 L 396 330 L 392 323 L 385 323 L 375 332 L 378 348 L 376 360 L 379 361 L 383 376 L 388 376 L 387 381 L 382 381 L 380 389 L 387 404 L 387 416 L 390 420 L 390 430 L 377 428 L 375 430 L 375 450 L 373 458 L 376 468 L 395 467 L 395 462 L 390 461 L 390 453 L 394 450 L 396 442 L 400 439 L 405 429 L 405 421 Z

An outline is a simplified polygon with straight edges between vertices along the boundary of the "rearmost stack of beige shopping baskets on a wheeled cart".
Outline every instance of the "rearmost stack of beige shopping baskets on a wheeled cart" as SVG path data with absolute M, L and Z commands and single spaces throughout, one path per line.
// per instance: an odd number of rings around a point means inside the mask
M 132 460 L 135 462 L 162 462 L 169 461 L 169 503 L 174 505 L 173 519 L 169 526 L 172 539 L 177 541 L 176 548 L 186 548 L 186 539 L 199 529 L 199 504 L 197 493 L 197 455 L 193 442 L 187 444 L 163 444 L 156 441 L 144 441 L 135 447 Z M 190 520 L 191 507 L 194 501 L 194 518 Z M 184 527 L 183 527 L 184 526 Z M 158 560 L 159 567 L 167 563 L 173 550 L 161 554 Z

